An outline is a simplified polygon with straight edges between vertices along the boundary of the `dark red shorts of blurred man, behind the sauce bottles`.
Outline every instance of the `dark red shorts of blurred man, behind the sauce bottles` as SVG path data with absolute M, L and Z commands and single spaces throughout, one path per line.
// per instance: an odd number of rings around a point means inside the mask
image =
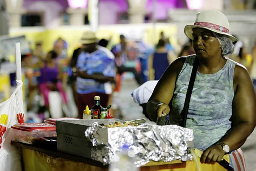
M 94 105 L 94 96 L 99 96 L 101 98 L 101 106 L 106 108 L 108 105 L 109 95 L 104 93 L 88 93 L 88 94 L 79 94 L 77 97 L 77 108 L 78 108 L 78 118 L 83 119 L 83 113 L 88 105 L 89 109 Z

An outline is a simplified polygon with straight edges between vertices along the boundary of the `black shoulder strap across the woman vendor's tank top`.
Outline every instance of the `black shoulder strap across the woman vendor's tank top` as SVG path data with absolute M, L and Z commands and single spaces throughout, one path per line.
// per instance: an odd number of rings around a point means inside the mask
M 193 90 L 194 83 L 195 83 L 195 76 L 197 75 L 197 68 L 198 68 L 198 61 L 197 61 L 197 57 L 195 57 L 195 62 L 193 65 L 192 73 L 191 73 L 189 84 L 188 84 L 188 90 L 187 90 L 187 94 L 186 94 L 186 98 L 185 98 L 185 103 L 184 103 L 184 107 L 182 110 L 182 114 L 183 114 L 182 126 L 183 127 L 186 127 L 186 123 L 187 123 L 188 107 L 189 107 L 190 98 L 191 98 L 192 90 Z

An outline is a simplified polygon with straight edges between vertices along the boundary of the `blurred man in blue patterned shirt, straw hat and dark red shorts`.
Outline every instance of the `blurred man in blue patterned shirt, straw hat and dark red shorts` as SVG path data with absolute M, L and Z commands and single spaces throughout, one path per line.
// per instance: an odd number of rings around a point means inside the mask
M 95 33 L 85 32 L 81 42 L 83 52 L 72 69 L 74 76 L 77 76 L 78 118 L 83 118 L 86 105 L 89 108 L 93 106 L 94 96 L 100 96 L 101 106 L 107 107 L 112 93 L 111 82 L 116 75 L 114 55 L 107 48 L 97 46 Z

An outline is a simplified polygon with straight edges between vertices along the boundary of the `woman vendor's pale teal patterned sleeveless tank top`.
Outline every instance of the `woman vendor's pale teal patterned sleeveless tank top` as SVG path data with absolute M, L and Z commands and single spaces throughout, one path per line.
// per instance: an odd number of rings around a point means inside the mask
M 168 124 L 175 124 L 182 119 L 180 113 L 184 106 L 195 57 L 196 55 L 187 56 L 178 75 Z M 205 150 L 231 129 L 235 65 L 234 61 L 227 58 L 226 64 L 217 73 L 202 74 L 197 71 L 186 125 L 194 131 L 195 148 Z

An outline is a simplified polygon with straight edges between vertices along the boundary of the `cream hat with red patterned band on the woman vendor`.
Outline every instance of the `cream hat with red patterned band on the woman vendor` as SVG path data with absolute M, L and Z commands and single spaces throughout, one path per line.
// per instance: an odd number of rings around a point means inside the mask
M 203 11 L 197 14 L 194 25 L 186 25 L 184 33 L 189 39 L 193 39 L 193 28 L 204 28 L 212 32 L 229 36 L 232 42 L 237 38 L 229 34 L 228 18 L 220 11 Z

